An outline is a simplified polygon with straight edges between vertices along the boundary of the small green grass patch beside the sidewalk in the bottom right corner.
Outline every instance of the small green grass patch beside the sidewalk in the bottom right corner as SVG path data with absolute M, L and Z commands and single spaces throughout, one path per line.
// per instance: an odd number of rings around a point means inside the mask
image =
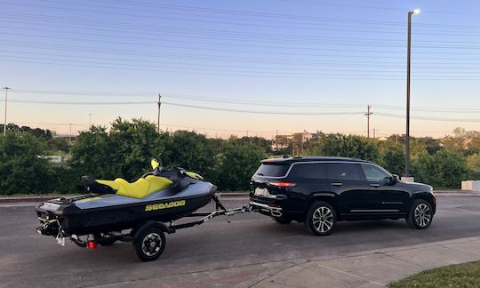
M 480 287 L 480 261 L 422 271 L 388 287 Z

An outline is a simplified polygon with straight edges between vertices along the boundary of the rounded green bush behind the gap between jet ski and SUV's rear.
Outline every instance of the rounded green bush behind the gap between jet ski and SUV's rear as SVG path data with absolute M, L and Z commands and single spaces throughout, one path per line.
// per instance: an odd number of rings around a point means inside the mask
M 215 184 L 222 191 L 244 191 L 249 180 L 267 154 L 251 142 L 226 141 L 215 156 Z

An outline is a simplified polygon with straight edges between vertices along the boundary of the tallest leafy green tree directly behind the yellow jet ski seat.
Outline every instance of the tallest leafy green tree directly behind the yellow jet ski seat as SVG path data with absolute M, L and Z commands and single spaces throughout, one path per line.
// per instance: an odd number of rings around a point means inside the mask
M 151 158 L 163 158 L 167 142 L 168 134 L 156 132 L 155 124 L 117 118 L 109 133 L 100 126 L 80 133 L 72 148 L 72 165 L 79 173 L 98 179 L 136 180 L 151 170 Z

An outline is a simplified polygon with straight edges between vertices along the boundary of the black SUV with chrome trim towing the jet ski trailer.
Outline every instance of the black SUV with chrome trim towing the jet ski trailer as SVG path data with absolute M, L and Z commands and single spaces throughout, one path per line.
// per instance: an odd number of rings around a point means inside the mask
M 369 161 L 345 157 L 263 160 L 252 176 L 253 210 L 278 223 L 305 222 L 314 235 L 328 235 L 339 220 L 397 220 L 430 226 L 436 211 L 432 187 L 405 183 Z

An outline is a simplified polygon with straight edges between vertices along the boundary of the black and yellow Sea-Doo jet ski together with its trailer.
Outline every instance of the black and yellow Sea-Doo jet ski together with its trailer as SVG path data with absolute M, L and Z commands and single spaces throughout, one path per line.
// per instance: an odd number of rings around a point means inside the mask
M 227 209 L 217 188 L 195 172 L 164 169 L 154 159 L 153 172 L 129 183 L 123 179 L 82 182 L 91 192 L 84 196 L 60 197 L 36 205 L 41 225 L 36 232 L 53 236 L 61 245 L 69 238 L 80 247 L 132 242 L 140 260 L 156 260 L 165 247 L 164 234 L 203 224 L 220 215 L 249 212 L 244 205 Z M 211 202 L 212 212 L 196 212 Z M 174 220 L 196 220 L 174 224 Z

